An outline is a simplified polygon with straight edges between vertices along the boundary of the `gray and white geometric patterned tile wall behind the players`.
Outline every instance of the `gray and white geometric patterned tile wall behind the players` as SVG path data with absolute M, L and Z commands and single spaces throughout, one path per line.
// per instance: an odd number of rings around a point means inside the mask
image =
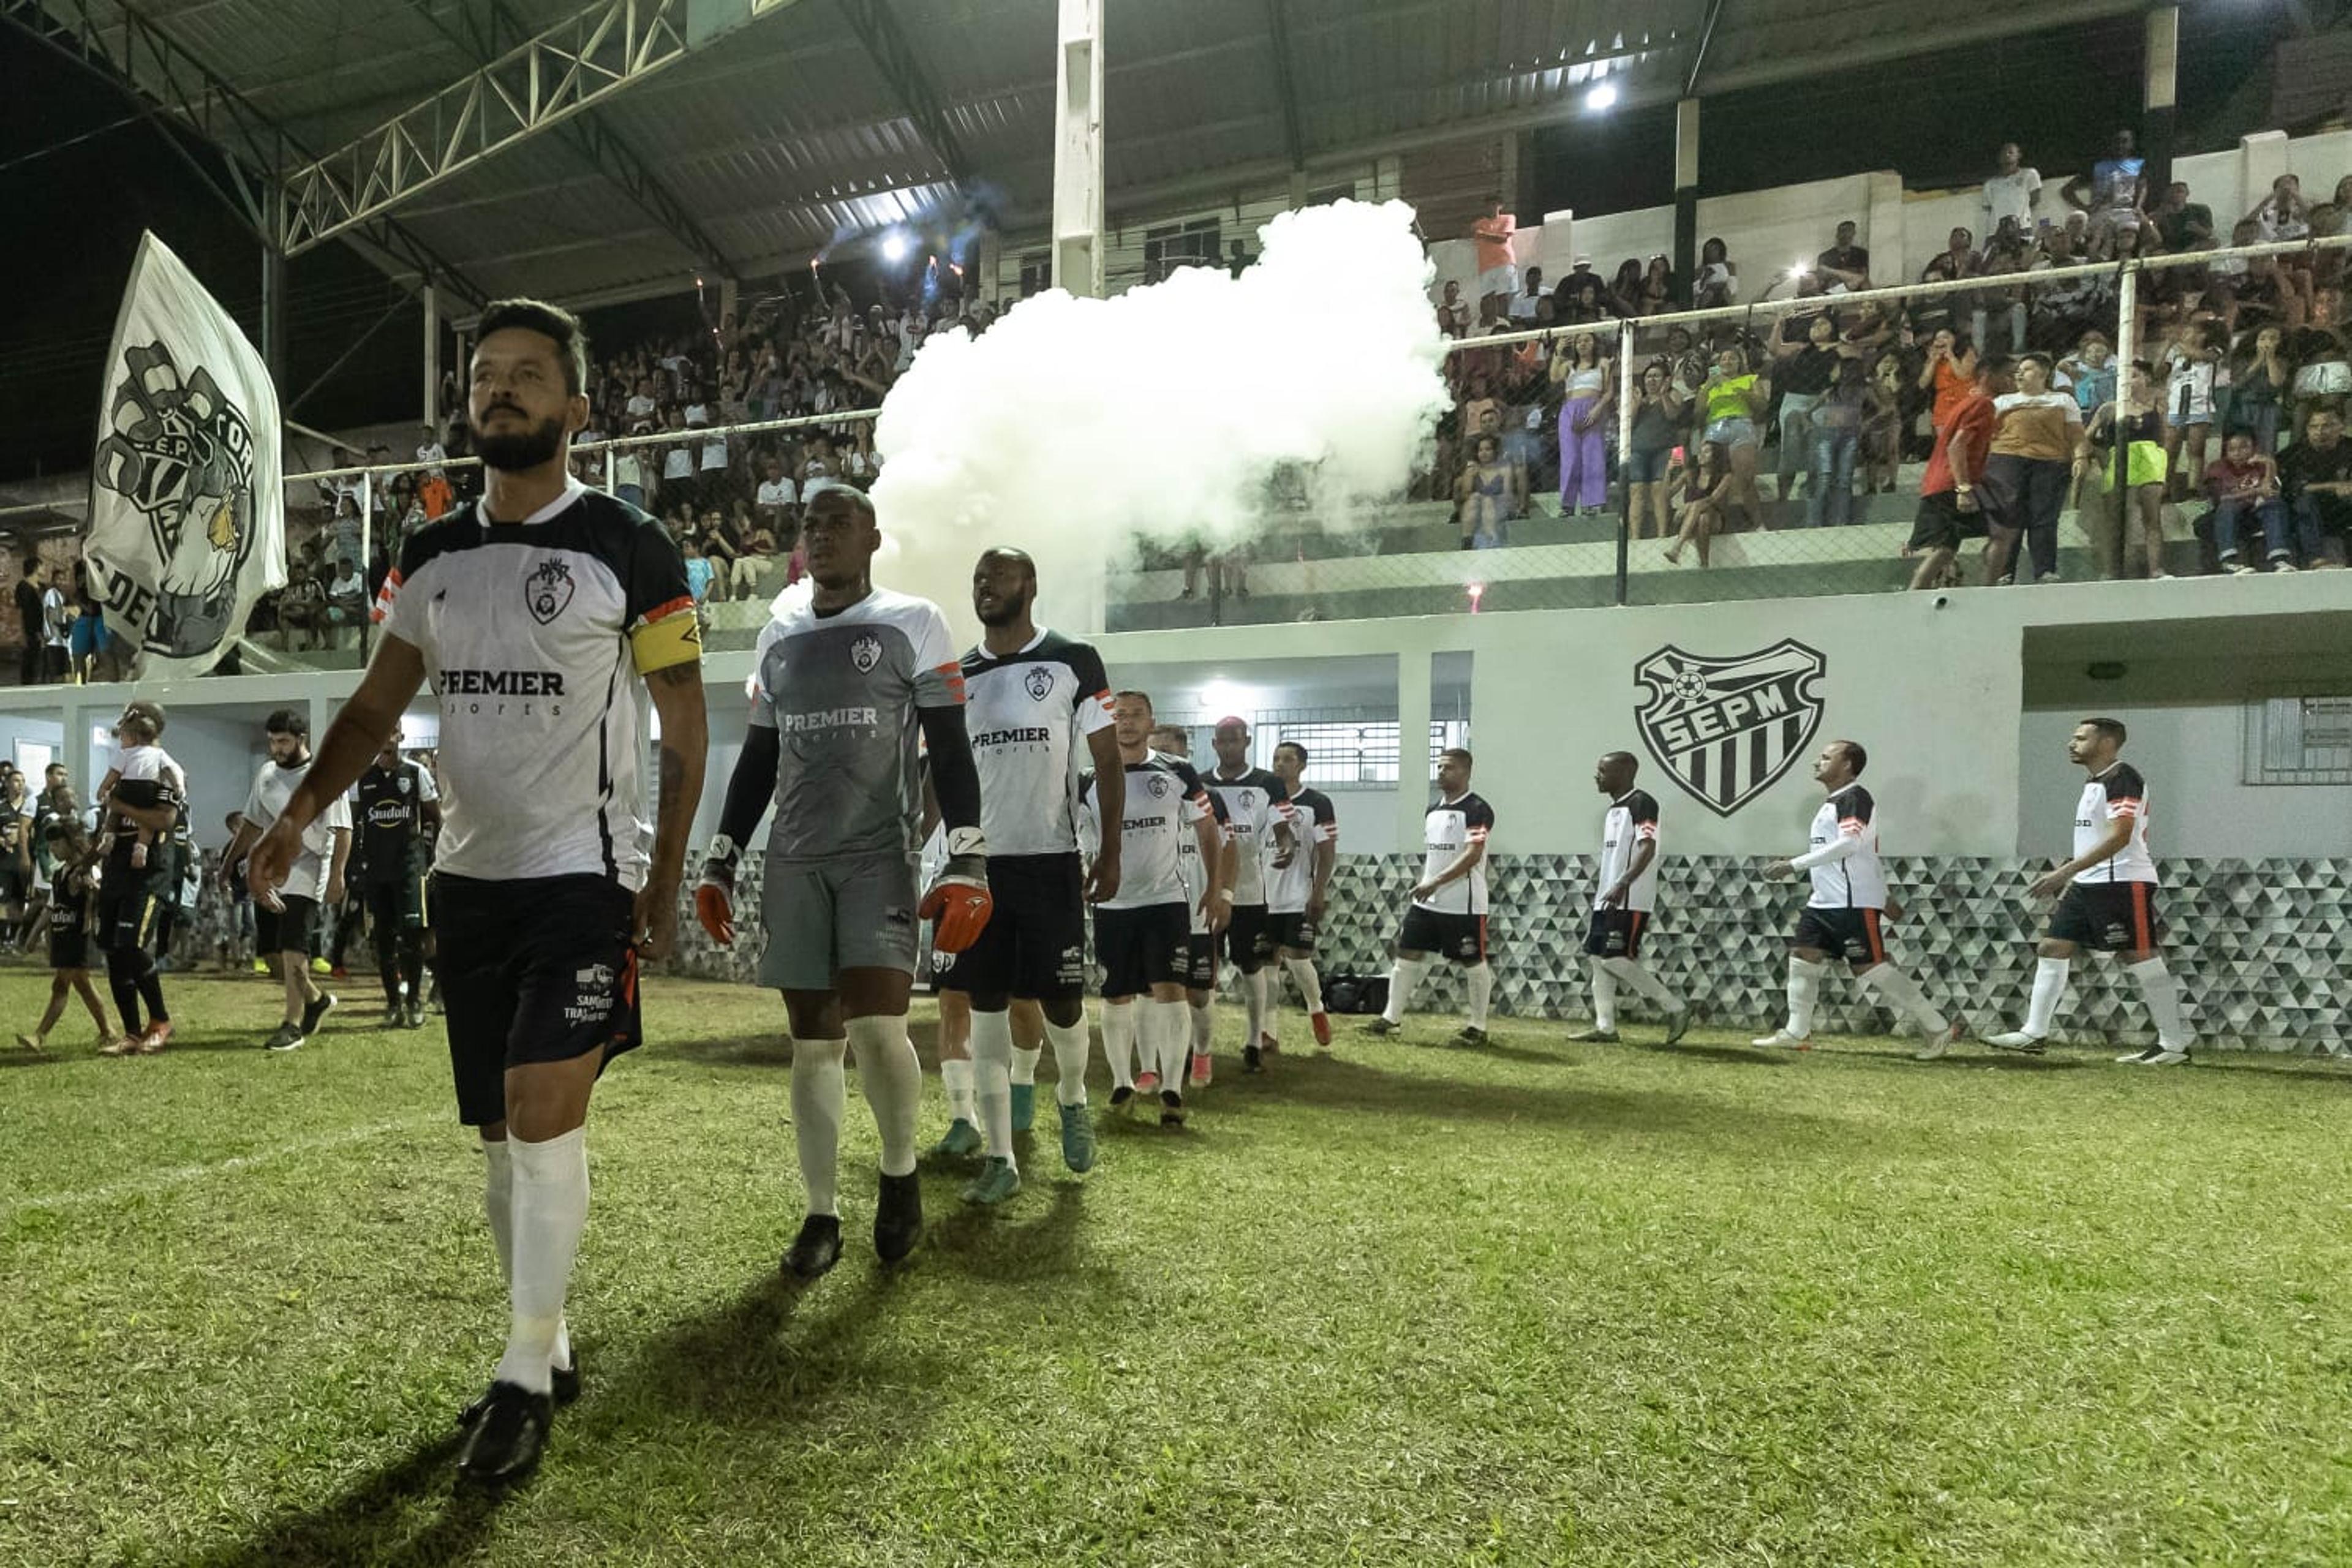
M 1583 966 L 1592 900 L 1590 856 L 1496 856 L 1489 947 L 1496 1013 L 1590 1018 Z M 1889 856 L 1886 872 L 1905 917 L 1889 926 L 1889 957 L 1903 964 L 1947 1013 L 1971 1030 L 2016 1027 L 2032 987 L 2042 910 L 2025 886 L 2039 863 L 1962 856 Z M 2190 1025 L 2206 1046 L 2319 1051 L 2352 1039 L 2352 860 L 2164 860 L 2161 943 L 2180 976 Z M 1385 973 L 1390 943 L 1421 856 L 1345 856 L 1331 884 L 1322 973 Z M 680 957 L 673 969 L 713 980 L 755 973 L 760 952 L 760 856 L 739 875 L 731 950 L 703 938 L 691 889 L 682 896 Z M 1785 1011 L 1788 929 L 1804 903 L 1802 882 L 1771 882 L 1755 860 L 1675 856 L 1665 863 L 1658 914 L 1642 938 L 1644 961 L 1696 999 L 1710 1023 L 1769 1030 Z M 1456 1011 L 1463 987 L 1439 964 L 1414 997 L 1416 1011 Z M 1642 1018 L 1628 997 L 1621 1013 Z M 1886 1032 L 1842 976 L 1823 985 L 1818 1027 Z M 1905 1025 L 1907 1027 L 1907 1025 Z M 2074 964 L 2058 1037 L 2140 1046 L 2154 1025 L 2138 987 L 2107 957 Z

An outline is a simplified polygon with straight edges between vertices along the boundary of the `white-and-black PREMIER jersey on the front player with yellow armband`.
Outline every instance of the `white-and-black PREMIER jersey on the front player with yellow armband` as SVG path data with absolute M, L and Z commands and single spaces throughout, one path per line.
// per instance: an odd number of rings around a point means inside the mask
M 659 522 L 564 482 L 522 522 L 468 501 L 409 536 L 376 595 L 440 710 L 437 867 L 513 882 L 644 882 L 644 675 L 703 654 L 687 564 Z

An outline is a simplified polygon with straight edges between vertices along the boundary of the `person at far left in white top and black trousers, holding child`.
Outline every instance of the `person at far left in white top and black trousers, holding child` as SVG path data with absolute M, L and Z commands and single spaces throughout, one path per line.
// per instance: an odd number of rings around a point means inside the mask
M 172 835 L 188 811 L 188 776 L 162 750 L 165 715 L 146 698 L 127 703 L 115 722 L 120 755 L 113 788 L 101 785 L 99 839 L 99 945 L 106 950 L 106 985 L 122 1016 L 122 1034 L 99 1046 L 101 1056 L 153 1056 L 172 1039 L 172 1013 L 162 1001 L 155 954 L 162 943 L 162 905 L 174 898 L 172 867 L 148 846 Z M 139 1004 L 146 1004 L 146 1027 Z

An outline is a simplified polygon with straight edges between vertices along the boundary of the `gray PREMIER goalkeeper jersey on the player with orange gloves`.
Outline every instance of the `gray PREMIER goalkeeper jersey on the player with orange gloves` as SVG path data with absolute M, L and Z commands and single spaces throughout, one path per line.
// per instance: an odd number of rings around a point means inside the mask
M 795 599 L 760 632 L 753 670 L 750 722 L 779 731 L 767 853 L 920 853 L 915 710 L 964 701 L 938 607 L 887 588 L 833 614 Z

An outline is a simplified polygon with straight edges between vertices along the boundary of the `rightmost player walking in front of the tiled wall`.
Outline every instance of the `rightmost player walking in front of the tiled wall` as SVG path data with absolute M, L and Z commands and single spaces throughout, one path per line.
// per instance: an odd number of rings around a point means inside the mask
M 2190 1060 L 2190 1030 L 2180 1016 L 2180 980 L 2157 952 L 2157 860 L 2147 853 L 2147 780 L 2117 752 L 2124 750 L 2122 719 L 2084 719 L 2067 736 L 2067 762 L 2089 778 L 2074 802 L 2074 858 L 2034 879 L 2032 896 L 2058 896 L 2034 964 L 2034 997 L 2025 1027 L 1992 1034 L 1987 1046 L 2042 1056 L 2065 994 L 2067 969 L 2084 947 L 2124 954 L 2124 969 L 2140 983 L 2147 1013 L 2157 1020 L 2157 1044 L 2114 1058 L 2136 1067 L 2178 1067 Z

